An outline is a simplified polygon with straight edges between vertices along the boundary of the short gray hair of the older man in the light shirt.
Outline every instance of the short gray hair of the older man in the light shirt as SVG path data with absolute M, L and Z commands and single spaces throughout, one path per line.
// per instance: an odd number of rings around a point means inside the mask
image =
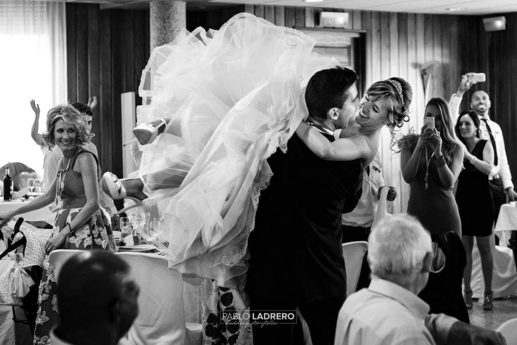
M 412 281 L 432 251 L 431 236 L 412 216 L 399 214 L 372 229 L 368 239 L 372 275 L 386 280 Z

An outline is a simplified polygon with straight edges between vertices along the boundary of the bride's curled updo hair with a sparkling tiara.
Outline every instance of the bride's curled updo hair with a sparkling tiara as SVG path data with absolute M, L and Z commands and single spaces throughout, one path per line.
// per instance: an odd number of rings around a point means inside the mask
M 393 136 L 397 128 L 409 121 L 409 105 L 413 98 L 411 85 L 402 78 L 393 77 L 373 83 L 366 94 L 372 101 L 384 100 L 388 111 L 387 126 Z

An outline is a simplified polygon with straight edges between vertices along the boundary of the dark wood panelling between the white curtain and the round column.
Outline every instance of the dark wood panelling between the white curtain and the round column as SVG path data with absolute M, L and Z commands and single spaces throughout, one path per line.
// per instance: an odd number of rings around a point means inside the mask
M 97 96 L 93 142 L 102 170 L 121 176 L 120 94 L 138 93 L 150 55 L 149 11 L 67 3 L 66 13 L 68 98 L 86 103 Z

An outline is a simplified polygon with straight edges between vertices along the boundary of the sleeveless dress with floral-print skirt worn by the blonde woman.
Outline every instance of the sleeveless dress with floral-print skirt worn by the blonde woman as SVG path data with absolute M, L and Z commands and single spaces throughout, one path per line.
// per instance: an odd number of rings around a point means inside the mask
M 92 154 L 89 151 L 80 149 L 70 158 L 69 169 L 62 169 L 61 175 L 57 178 L 56 192 L 59 193 L 60 186 L 63 195 L 63 208 L 57 212 L 52 236 L 57 235 L 66 224 L 70 223 L 81 211 L 86 203 L 82 176 L 74 171 L 75 160 L 81 154 Z M 94 155 L 99 166 L 98 159 Z M 66 171 L 65 171 L 66 170 Z M 100 174 L 100 168 L 98 176 Z M 64 182 L 62 184 L 62 182 Z M 111 222 L 108 214 L 98 208 L 92 217 L 81 227 L 70 233 L 60 249 L 92 250 L 105 249 L 116 251 L 115 239 L 112 234 Z M 57 308 L 57 287 L 54 276 L 54 269 L 49 263 L 49 256 L 45 256 L 43 263 L 43 275 L 39 286 L 38 313 L 36 317 L 36 331 L 34 344 L 50 344 L 50 330 L 56 326 L 59 310 Z

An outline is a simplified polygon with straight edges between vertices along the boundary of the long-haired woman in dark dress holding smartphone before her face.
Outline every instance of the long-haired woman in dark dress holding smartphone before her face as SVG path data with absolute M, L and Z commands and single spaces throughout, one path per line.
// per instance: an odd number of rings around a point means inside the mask
M 431 233 L 435 251 L 432 274 L 420 297 L 431 306 L 431 312 L 468 322 L 461 291 L 465 251 L 452 193 L 463 166 L 463 149 L 443 98 L 432 98 L 425 116 L 432 119 L 426 120 L 420 135 L 410 134 L 399 142 L 402 177 L 410 185 L 407 213 Z

